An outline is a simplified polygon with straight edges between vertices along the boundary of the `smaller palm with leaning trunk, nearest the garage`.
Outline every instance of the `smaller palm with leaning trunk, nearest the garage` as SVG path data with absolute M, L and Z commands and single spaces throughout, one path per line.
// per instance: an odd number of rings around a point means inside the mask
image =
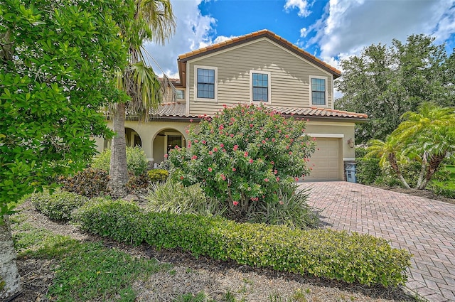
M 403 161 L 404 158 L 401 153 L 402 144 L 400 141 L 392 135 L 388 135 L 385 138 L 385 141 L 380 141 L 379 139 L 372 139 L 368 142 L 368 153 L 366 157 L 379 157 L 379 166 L 383 167 L 388 162 L 392 166 L 393 171 L 397 174 L 397 177 L 400 179 L 405 188 L 410 189 L 410 185 L 407 183 L 400 168 L 400 161 Z

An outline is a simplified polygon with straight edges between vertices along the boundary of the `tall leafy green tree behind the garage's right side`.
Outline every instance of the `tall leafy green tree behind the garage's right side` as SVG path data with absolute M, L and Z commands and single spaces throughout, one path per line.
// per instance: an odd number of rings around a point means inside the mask
M 356 126 L 357 141 L 385 139 L 402 114 L 424 102 L 453 106 L 453 56 L 448 57 L 445 45 L 435 45 L 431 36 L 413 35 L 406 43 L 370 45 L 360 55 L 342 60 L 343 75 L 336 88 L 343 97 L 335 106 L 370 118 Z

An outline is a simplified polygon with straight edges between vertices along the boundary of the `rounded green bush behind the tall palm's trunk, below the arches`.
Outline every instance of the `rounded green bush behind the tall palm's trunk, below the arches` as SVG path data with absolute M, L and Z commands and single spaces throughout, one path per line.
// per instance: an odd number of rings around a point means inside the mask
M 99 155 L 95 156 L 90 165 L 92 168 L 102 169 L 109 173 L 109 166 L 111 162 L 111 150 L 105 149 Z M 139 176 L 147 171 L 149 162 L 147 161 L 146 154 L 141 147 L 127 146 L 127 169 L 128 172 Z

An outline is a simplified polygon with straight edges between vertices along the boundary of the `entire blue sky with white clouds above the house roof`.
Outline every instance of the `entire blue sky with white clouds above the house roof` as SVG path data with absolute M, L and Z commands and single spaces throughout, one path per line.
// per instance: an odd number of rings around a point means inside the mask
M 455 48 L 455 0 L 171 0 L 177 28 L 166 45 L 147 43 L 159 67 L 177 77 L 182 53 L 268 29 L 339 68 L 371 44 L 414 33 Z M 152 66 L 162 74 L 156 64 Z

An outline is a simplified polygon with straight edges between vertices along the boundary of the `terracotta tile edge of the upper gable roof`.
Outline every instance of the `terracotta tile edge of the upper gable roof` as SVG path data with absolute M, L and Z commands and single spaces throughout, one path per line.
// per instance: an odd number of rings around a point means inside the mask
M 205 53 L 222 50 L 222 49 L 225 49 L 228 47 L 232 47 L 233 45 L 245 43 L 245 42 L 252 41 L 252 40 L 255 40 L 258 38 L 263 38 L 263 37 L 268 37 L 268 38 L 272 39 L 272 41 L 275 41 L 275 42 L 283 45 L 285 48 L 293 51 L 294 53 L 296 53 L 298 55 L 301 55 L 301 57 L 303 57 L 303 58 L 306 58 L 306 60 L 311 61 L 312 63 L 318 65 L 319 67 L 323 68 L 324 70 L 327 70 L 328 72 L 331 72 L 331 74 L 333 74 L 334 78 L 341 76 L 340 70 L 332 67 L 331 65 L 328 65 L 327 63 L 323 62 L 319 58 L 316 58 L 314 55 L 311 55 L 309 52 L 302 50 L 298 46 L 292 44 L 291 42 L 287 41 L 286 39 L 278 36 L 277 34 L 273 33 L 272 31 L 269 31 L 267 29 L 263 29 L 261 31 L 255 31 L 254 33 L 248 33 L 245 36 L 238 36 L 235 38 L 231 38 L 227 41 L 223 41 L 218 44 L 208 45 L 204 48 L 190 51 L 189 53 L 183 53 L 183 55 L 178 56 L 178 61 L 185 62 L 187 60 L 190 60 L 191 58 L 198 57 L 200 55 L 205 55 Z

